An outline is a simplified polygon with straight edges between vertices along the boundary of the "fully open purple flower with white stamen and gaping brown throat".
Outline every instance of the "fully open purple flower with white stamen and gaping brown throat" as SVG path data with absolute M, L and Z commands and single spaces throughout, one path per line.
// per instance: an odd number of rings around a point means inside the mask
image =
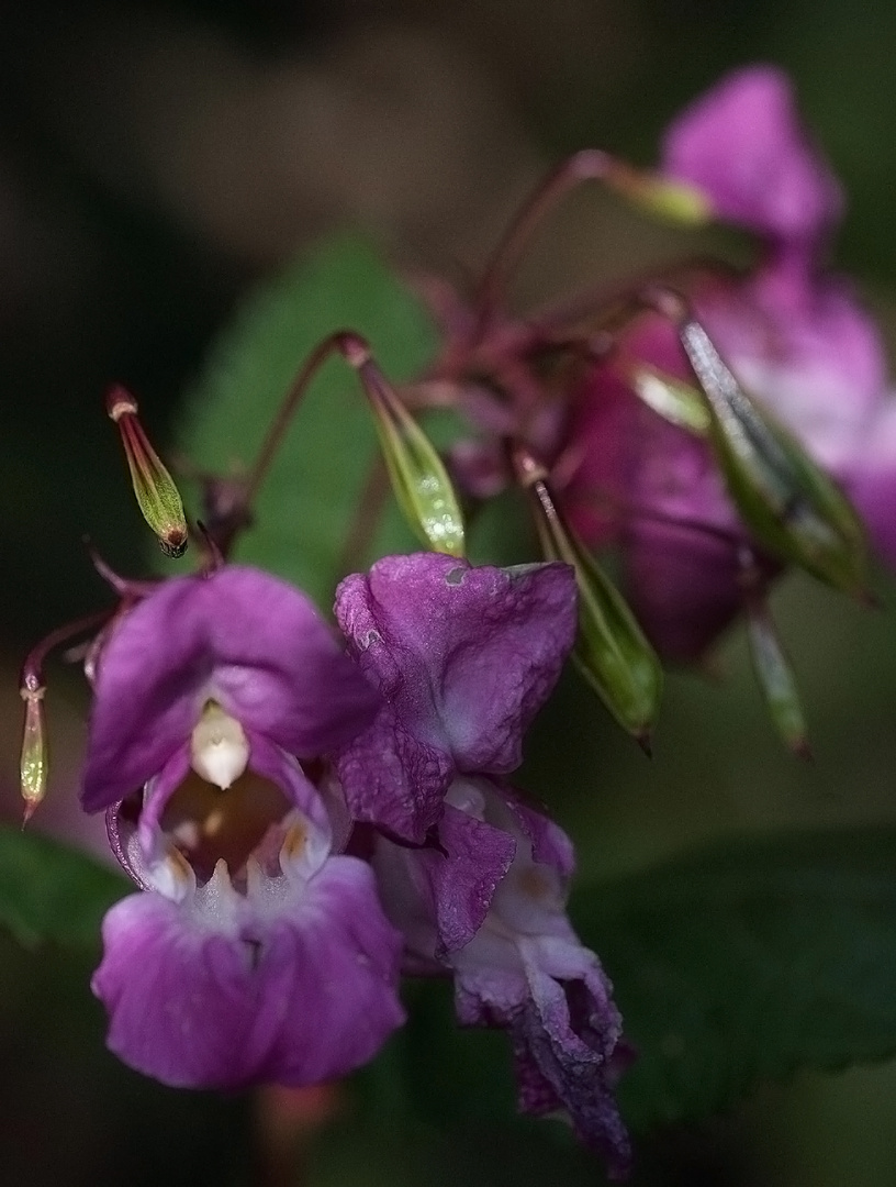
M 301 1085 L 403 1021 L 401 941 L 370 868 L 337 850 L 314 760 L 379 698 L 311 602 L 225 567 L 166 582 L 101 653 L 83 801 L 142 893 L 103 926 L 109 1045 L 166 1084 Z

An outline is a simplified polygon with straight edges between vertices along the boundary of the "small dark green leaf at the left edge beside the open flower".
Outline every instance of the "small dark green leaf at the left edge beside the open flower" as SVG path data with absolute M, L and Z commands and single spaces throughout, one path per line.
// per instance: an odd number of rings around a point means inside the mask
M 0 825 L 0 925 L 21 944 L 96 947 L 103 915 L 129 886 L 87 853 Z

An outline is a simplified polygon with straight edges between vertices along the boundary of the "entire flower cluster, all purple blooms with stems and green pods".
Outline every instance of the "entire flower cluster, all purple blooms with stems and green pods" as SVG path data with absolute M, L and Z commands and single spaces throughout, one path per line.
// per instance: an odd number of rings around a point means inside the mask
M 500 281 L 524 233 L 583 177 L 743 228 L 759 261 L 685 268 L 653 297 L 505 316 Z M 363 338 L 325 339 L 248 480 L 206 483 L 203 572 L 146 584 L 107 573 L 117 610 L 75 624 L 102 628 L 87 650 L 82 800 L 105 812 L 139 888 L 107 915 L 94 977 L 127 1064 L 184 1087 L 318 1084 L 402 1026 L 403 973 L 447 977 L 462 1024 L 508 1033 L 520 1107 L 565 1113 L 612 1175 L 627 1173 L 614 1087 L 631 1050 L 567 918 L 571 844 L 510 776 L 574 645 L 646 745 L 661 673 L 641 628 L 664 655 L 695 660 L 750 599 L 756 612 L 788 560 L 821 577 L 833 565 L 834 578 L 851 565 L 855 515 L 819 466 L 896 561 L 896 402 L 873 324 L 823 261 L 840 207 L 787 81 L 740 71 L 673 123 L 655 173 L 596 152 L 558 171 L 472 306 L 439 287 L 443 350 L 404 400 Z M 589 318 L 596 332 L 580 325 Z M 305 383 L 334 351 L 367 393 L 405 514 L 442 550 L 345 578 L 338 630 L 303 594 L 225 563 Z M 474 430 L 448 458 L 466 500 L 518 481 L 553 560 L 462 559 L 461 501 L 412 415 L 428 404 L 453 405 Z M 116 388 L 109 411 L 145 518 L 183 551 L 180 497 L 136 402 Z M 800 532 L 804 551 L 788 551 Z M 607 545 L 634 615 L 585 551 Z M 46 785 L 40 660 L 71 634 L 53 633 L 25 666 L 28 814 Z

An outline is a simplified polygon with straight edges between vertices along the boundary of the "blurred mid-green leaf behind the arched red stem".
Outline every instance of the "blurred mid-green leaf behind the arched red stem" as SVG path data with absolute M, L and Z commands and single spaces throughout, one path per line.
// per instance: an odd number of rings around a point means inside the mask
M 393 382 L 418 372 L 435 347 L 423 307 L 377 253 L 356 239 L 331 240 L 260 290 L 223 332 L 188 393 L 181 452 L 204 470 L 248 468 L 302 362 L 340 329 L 367 338 Z M 295 415 L 258 497 L 256 526 L 241 539 L 236 559 L 294 580 L 328 609 L 361 504 L 377 518 L 367 483 L 378 456 L 357 375 L 341 360 L 328 361 Z M 388 484 L 384 501 L 376 551 L 412 550 Z

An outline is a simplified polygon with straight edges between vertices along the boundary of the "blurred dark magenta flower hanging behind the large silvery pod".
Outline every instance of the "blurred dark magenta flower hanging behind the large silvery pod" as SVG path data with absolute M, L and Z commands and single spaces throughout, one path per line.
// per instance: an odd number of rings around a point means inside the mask
M 633 349 L 640 362 L 685 377 L 658 319 Z M 593 547 L 617 548 L 626 595 L 654 647 L 671 660 L 700 656 L 742 607 L 740 556 L 751 545 L 709 445 L 642 404 L 613 367 L 595 368 L 582 385 L 570 439 L 581 449 L 564 491 L 574 527 Z M 776 571 L 770 559 L 762 564 Z

